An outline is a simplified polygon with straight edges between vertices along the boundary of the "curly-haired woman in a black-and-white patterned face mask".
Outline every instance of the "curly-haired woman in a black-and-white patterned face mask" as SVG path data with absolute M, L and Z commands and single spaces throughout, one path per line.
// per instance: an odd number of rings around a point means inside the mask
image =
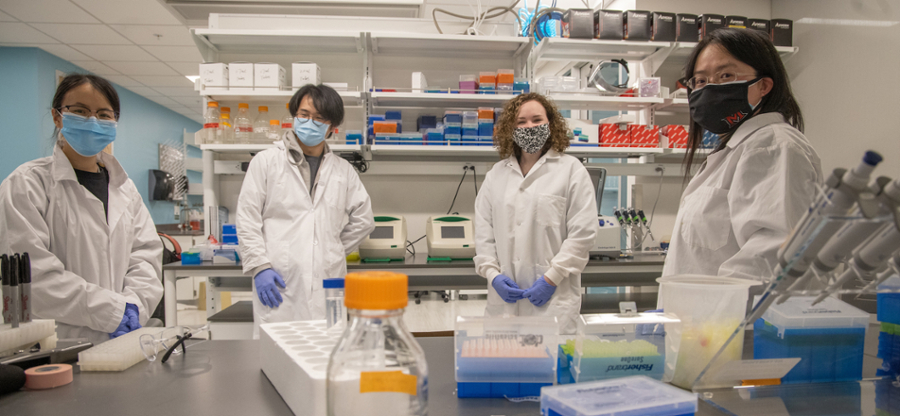
M 555 316 L 561 334 L 574 334 L 599 227 L 587 169 L 562 153 L 567 130 L 540 94 L 507 103 L 494 133 L 503 160 L 475 199 L 474 260 L 487 279 L 485 316 Z

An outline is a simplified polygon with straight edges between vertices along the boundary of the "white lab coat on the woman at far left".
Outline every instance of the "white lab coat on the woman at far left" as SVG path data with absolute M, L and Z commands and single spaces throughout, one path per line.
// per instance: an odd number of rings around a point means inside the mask
M 78 183 L 59 146 L 0 184 L 0 252 L 28 252 L 35 318 L 55 319 L 59 338 L 109 340 L 125 304 L 146 324 L 163 295 L 162 242 L 134 183 L 114 157 L 109 222 L 103 203 Z

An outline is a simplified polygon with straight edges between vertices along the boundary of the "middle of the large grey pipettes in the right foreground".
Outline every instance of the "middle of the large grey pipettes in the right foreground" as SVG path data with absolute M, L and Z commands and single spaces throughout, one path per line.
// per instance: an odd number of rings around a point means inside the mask
M 862 208 L 866 202 L 872 202 L 872 206 L 877 209 L 872 217 L 880 217 L 889 215 L 895 207 L 900 205 L 900 180 L 891 182 L 888 177 L 879 177 L 869 186 L 869 192 L 859 195 L 860 200 L 851 216 L 860 216 L 864 214 Z M 872 198 L 872 201 L 867 201 Z M 870 238 L 883 224 L 876 221 L 858 220 L 852 221 L 841 227 L 837 233 L 822 247 L 819 255 L 813 261 L 812 267 L 799 277 L 787 290 L 801 290 L 806 282 L 818 273 L 828 273 L 837 268 L 837 266 L 847 260 L 850 254 L 856 250 L 861 244 Z M 783 293 L 778 297 L 778 304 L 784 303 L 790 298 L 789 293 Z

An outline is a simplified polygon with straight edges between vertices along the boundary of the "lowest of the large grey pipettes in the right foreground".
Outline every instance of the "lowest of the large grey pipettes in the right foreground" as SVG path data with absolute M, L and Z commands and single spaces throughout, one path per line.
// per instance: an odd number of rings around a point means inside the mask
M 825 300 L 832 293 L 841 289 L 853 276 L 870 275 L 884 266 L 891 255 L 900 247 L 900 224 L 891 222 L 885 225 L 874 237 L 850 259 L 847 270 L 829 285 L 816 299 L 813 305 Z

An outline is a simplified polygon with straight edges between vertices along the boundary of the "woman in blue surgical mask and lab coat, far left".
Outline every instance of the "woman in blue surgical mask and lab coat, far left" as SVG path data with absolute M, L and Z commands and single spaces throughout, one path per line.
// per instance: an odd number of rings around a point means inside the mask
M 162 243 L 134 183 L 102 150 L 119 97 L 105 79 L 69 75 L 53 97 L 53 155 L 0 184 L 0 253 L 31 257 L 34 318 L 94 344 L 146 324 L 162 299 Z

